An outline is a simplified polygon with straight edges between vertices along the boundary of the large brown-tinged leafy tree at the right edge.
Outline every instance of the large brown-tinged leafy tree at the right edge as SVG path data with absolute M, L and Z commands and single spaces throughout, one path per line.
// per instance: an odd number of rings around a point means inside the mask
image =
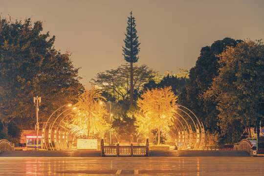
M 259 129 L 264 118 L 264 44 L 244 41 L 227 47 L 218 57 L 219 75 L 204 97 L 216 97 L 222 134 L 239 122 L 252 137 L 250 126 Z

